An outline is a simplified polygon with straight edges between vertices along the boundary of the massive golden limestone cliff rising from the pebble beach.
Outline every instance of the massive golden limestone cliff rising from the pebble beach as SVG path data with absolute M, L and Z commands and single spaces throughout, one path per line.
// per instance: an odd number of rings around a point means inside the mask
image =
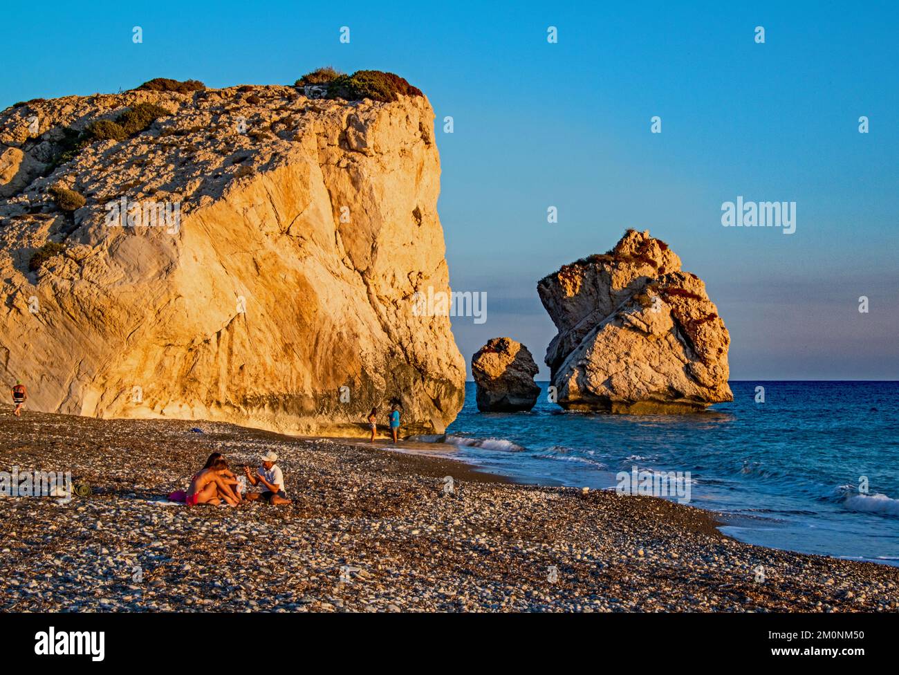
M 171 114 L 64 154 L 141 102 Z M 423 96 L 287 86 L 3 111 L 2 379 L 40 411 L 352 434 L 396 398 L 404 431 L 443 431 L 465 361 L 449 317 L 412 311 L 416 291 L 449 292 L 433 117 Z M 147 226 L 153 202 L 169 219 Z M 31 271 L 48 242 L 62 252 Z

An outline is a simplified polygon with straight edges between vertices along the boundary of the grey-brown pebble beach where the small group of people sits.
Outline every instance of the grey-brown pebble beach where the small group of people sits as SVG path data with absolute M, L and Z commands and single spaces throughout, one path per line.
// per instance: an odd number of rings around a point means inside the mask
M 711 511 L 380 444 L 4 410 L 0 470 L 71 472 L 89 494 L 0 498 L 0 610 L 899 609 L 896 567 L 751 546 Z M 268 450 L 289 506 L 165 500 L 211 452 L 238 470 Z

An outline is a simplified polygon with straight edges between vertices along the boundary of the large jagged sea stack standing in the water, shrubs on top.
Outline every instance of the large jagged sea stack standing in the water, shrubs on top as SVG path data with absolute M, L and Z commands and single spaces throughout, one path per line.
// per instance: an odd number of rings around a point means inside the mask
M 570 410 L 690 413 L 734 400 L 730 336 L 706 287 L 649 232 L 540 280 L 558 334 L 546 363 Z

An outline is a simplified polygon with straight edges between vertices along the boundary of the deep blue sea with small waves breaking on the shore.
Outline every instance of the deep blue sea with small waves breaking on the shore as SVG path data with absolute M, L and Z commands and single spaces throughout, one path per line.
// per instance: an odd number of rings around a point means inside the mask
M 447 434 L 420 447 L 532 484 L 689 471 L 690 504 L 733 537 L 899 564 L 899 382 L 732 382 L 733 403 L 659 416 L 566 413 L 539 384 L 530 413 L 479 413 L 468 383 Z

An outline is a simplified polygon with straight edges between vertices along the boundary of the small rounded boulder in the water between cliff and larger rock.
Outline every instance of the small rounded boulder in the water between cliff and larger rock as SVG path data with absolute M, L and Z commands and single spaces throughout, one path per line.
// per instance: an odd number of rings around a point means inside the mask
M 539 368 L 521 342 L 494 338 L 471 358 L 477 385 L 477 409 L 482 413 L 528 411 L 537 403 L 540 387 L 534 383 Z

